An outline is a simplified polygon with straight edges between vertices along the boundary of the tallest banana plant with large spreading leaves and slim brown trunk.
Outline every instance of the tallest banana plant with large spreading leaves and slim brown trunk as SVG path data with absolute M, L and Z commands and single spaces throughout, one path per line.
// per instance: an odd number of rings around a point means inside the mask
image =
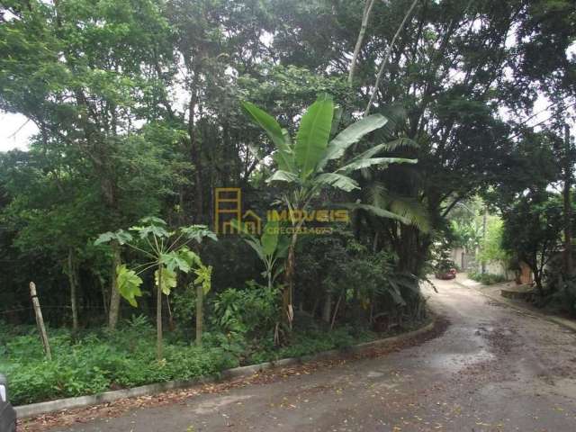
M 285 286 L 283 293 L 283 317 L 289 329 L 293 323 L 293 280 L 294 249 L 298 231 L 302 228 L 304 218 L 297 220 L 294 211 L 306 211 L 311 200 L 325 187 L 333 187 L 345 192 L 360 189 L 360 185 L 350 176 L 357 170 L 370 166 L 387 166 L 389 164 L 415 164 L 414 159 L 400 157 L 379 157 L 387 144 L 378 144 L 363 153 L 348 157 L 347 150 L 366 134 L 382 128 L 387 119 L 381 114 L 373 114 L 348 126 L 345 130 L 330 139 L 334 121 L 335 106 L 328 94 L 321 94 L 315 103 L 302 115 L 302 120 L 295 139 L 288 130 L 282 128 L 278 121 L 254 103 L 243 102 L 242 107 L 275 145 L 273 159 L 277 166 L 274 173 L 266 180 L 268 183 L 280 183 L 287 186 L 280 201 L 288 208 L 293 235 L 288 248 L 286 262 Z M 380 216 L 403 220 L 392 211 L 379 211 Z M 404 220 L 403 220 L 404 221 Z

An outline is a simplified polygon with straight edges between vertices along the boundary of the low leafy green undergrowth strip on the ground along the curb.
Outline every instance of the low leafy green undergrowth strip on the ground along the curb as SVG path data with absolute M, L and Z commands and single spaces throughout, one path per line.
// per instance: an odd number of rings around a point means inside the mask
M 22 405 L 218 375 L 238 365 L 311 355 L 385 335 L 351 328 L 298 330 L 284 347 L 275 347 L 272 338 L 247 343 L 221 333 L 206 333 L 202 347 L 195 347 L 166 336 L 165 359 L 157 362 L 154 329 L 146 320 L 132 320 L 115 332 L 85 330 L 76 337 L 65 329 L 50 329 L 53 359 L 48 362 L 36 329 L 2 325 L 0 371 L 8 376 L 13 404 Z

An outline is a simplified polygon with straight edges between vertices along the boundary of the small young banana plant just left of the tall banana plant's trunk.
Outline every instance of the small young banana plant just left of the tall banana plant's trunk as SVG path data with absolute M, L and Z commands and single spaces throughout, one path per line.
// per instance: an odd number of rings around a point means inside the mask
M 232 226 L 243 236 L 265 266 L 262 276 L 266 279 L 268 288 L 272 288 L 278 276 L 284 271 L 282 260 L 288 253 L 290 239 L 280 234 L 280 221 L 268 220 L 264 232 L 257 238 L 250 234 L 238 220 L 232 220 Z

